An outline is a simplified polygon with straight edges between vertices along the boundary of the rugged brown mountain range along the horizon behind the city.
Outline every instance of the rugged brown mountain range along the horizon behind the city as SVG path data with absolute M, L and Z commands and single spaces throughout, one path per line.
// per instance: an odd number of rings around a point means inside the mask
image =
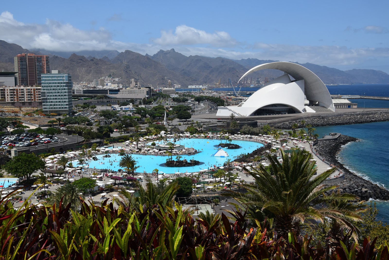
M 14 56 L 20 53 L 36 53 L 50 56 L 50 68 L 72 75 L 74 82 L 93 81 L 111 74 L 122 78 L 128 84 L 134 78 L 141 85 L 151 84 L 154 87 L 166 87 L 168 80 L 172 84 L 186 87 L 188 85 L 209 85 L 220 80 L 228 85 L 228 78 L 237 84 L 239 78 L 252 67 L 275 60 L 258 60 L 247 58 L 231 60 L 223 57 L 189 57 L 171 50 L 160 50 L 154 55 L 142 55 L 130 50 L 123 52 L 113 50 L 79 51 L 77 53 L 55 52 L 47 50 L 27 50 L 17 44 L 0 40 L 0 70 L 14 70 Z M 298 62 L 295 62 L 299 64 Z M 326 84 L 389 83 L 389 75 L 372 69 L 339 69 L 317 64 L 300 64 L 314 72 Z M 250 81 L 258 78 L 269 80 L 282 75 L 277 70 L 262 70 L 250 75 Z M 252 78 L 251 78 L 252 77 Z

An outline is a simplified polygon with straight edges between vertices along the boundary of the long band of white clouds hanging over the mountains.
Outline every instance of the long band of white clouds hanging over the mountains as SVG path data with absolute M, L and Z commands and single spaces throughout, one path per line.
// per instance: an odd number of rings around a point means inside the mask
M 374 32 L 385 32 L 385 28 L 364 27 Z M 354 30 L 351 27 L 347 30 Z M 49 51 L 81 50 L 131 50 L 141 54 L 156 53 L 160 49 L 175 48 L 189 55 L 226 57 L 231 59 L 258 58 L 300 63 L 314 63 L 331 67 L 365 64 L 366 61 L 389 58 L 389 48 L 347 48 L 345 46 L 300 46 L 257 42 L 243 44 L 227 32 L 208 33 L 203 30 L 180 25 L 175 32 L 161 32 L 161 37 L 151 43 L 138 44 L 112 40 L 105 28 L 80 30 L 73 25 L 47 19 L 44 24 L 25 24 L 14 19 L 8 12 L 0 14 L 1 39 L 21 45 L 27 49 Z M 386 62 L 387 64 L 387 62 Z

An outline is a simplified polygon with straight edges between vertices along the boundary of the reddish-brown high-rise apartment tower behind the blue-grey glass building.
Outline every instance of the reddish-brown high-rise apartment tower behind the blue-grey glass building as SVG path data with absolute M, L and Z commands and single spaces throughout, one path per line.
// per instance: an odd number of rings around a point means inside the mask
M 50 73 L 49 56 L 33 53 L 18 54 L 14 57 L 15 71 L 19 86 L 41 85 L 41 74 Z

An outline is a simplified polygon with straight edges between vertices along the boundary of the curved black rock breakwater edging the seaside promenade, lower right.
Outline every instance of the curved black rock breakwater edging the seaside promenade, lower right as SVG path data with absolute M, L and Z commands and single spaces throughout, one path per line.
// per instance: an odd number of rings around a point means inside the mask
M 361 198 L 361 200 L 368 200 L 370 198 L 389 200 L 388 190 L 350 172 L 338 161 L 337 154 L 342 149 L 342 145 L 351 141 L 357 141 L 357 138 L 341 135 L 337 140 L 317 141 L 317 144 L 314 146 L 314 150 L 319 156 L 323 157 L 326 161 L 335 164 L 345 173 L 344 180 L 339 184 L 339 187 L 336 188 L 336 191 L 339 190 L 340 193 L 352 193 Z M 327 194 L 330 193 L 331 192 L 328 192 Z

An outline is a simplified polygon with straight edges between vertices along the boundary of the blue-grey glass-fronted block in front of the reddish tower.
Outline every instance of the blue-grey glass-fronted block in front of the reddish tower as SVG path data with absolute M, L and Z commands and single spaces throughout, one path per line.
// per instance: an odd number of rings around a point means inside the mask
M 42 75 L 43 113 L 58 115 L 72 113 L 72 76 L 60 71 Z

